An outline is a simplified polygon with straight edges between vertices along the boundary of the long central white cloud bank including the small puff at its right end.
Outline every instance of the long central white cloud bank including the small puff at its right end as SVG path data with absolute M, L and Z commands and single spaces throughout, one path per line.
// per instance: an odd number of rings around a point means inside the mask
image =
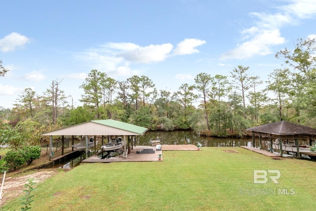
M 130 76 L 141 72 L 131 68 L 134 64 L 161 62 L 173 55 L 196 53 L 198 52 L 196 47 L 203 43 L 205 41 L 186 39 L 179 42 L 177 48 L 171 53 L 174 48 L 171 43 L 140 46 L 130 42 L 109 42 L 99 48 L 90 48 L 74 56 L 79 61 L 84 61 L 85 65 L 91 69 L 97 69 L 112 76 Z

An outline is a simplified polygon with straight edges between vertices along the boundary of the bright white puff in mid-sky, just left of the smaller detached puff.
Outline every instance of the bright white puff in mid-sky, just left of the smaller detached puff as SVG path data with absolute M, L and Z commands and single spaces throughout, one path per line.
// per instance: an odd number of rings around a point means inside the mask
M 119 57 L 135 63 L 151 63 L 164 61 L 167 55 L 171 52 L 173 45 L 170 43 L 160 45 L 149 45 L 145 47 L 138 47 L 133 50 L 119 53 Z

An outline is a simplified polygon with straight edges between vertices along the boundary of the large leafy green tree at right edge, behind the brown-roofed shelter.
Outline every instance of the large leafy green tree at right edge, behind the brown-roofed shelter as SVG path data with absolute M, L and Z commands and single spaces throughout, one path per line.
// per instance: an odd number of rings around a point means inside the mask
M 316 117 L 316 39 L 298 39 L 294 50 L 285 48 L 276 53 L 276 58 L 282 59 L 292 68 L 292 83 L 289 86 L 289 96 L 296 111 L 297 122 L 301 120 L 301 112 Z

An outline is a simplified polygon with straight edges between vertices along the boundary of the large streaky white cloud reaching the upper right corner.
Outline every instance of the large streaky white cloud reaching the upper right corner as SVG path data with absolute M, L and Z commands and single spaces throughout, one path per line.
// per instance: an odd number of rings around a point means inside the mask
M 257 18 L 254 26 L 241 31 L 242 43 L 223 53 L 220 59 L 244 59 L 255 55 L 272 53 L 272 46 L 282 44 L 279 29 L 288 25 L 298 25 L 300 19 L 310 18 L 316 14 L 315 0 L 293 0 L 292 3 L 276 7 L 274 14 L 252 12 Z

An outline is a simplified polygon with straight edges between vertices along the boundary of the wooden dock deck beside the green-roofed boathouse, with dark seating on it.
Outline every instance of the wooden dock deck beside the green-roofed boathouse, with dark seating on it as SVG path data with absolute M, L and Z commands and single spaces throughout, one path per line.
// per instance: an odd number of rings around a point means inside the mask
M 137 154 L 136 151 L 141 151 L 144 147 L 154 148 L 155 153 L 150 154 Z M 134 146 L 130 154 L 127 154 L 126 159 L 122 156 L 117 156 L 109 159 L 100 159 L 98 154 L 82 161 L 82 163 L 111 163 L 111 162 L 142 162 L 142 161 L 163 161 L 163 151 L 170 150 L 197 150 L 197 146 L 188 145 L 161 145 L 161 151 L 156 150 L 156 146 Z M 161 160 L 158 160 L 158 155 L 162 154 Z

